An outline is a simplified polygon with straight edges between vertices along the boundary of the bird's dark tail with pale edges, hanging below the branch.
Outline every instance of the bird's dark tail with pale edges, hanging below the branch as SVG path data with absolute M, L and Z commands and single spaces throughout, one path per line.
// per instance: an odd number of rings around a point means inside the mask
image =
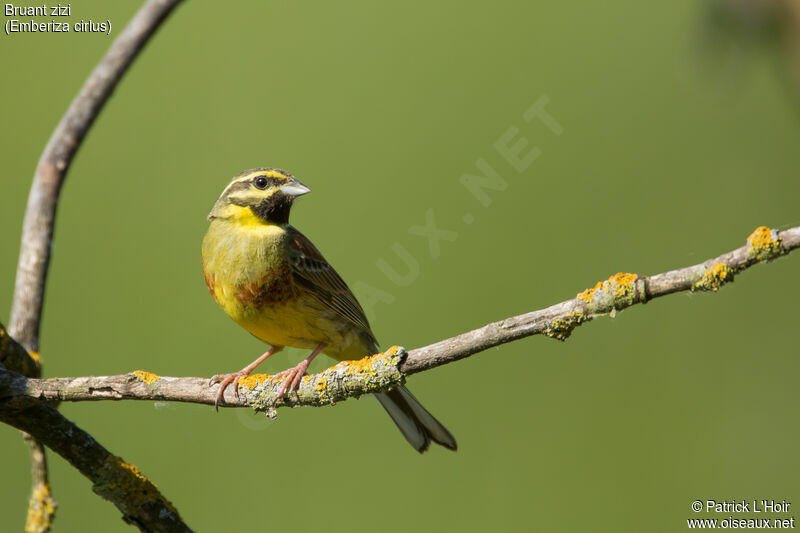
M 375 396 L 392 417 L 397 429 L 419 453 L 427 450 L 431 441 L 451 450 L 458 448 L 453 435 L 422 407 L 407 388 L 401 385 L 390 391 L 379 392 Z

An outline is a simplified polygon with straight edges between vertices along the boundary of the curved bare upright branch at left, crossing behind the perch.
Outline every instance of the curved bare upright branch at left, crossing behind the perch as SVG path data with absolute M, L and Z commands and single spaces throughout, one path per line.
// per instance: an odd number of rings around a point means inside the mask
M 89 75 L 39 159 L 22 226 L 22 244 L 9 323 L 11 335 L 30 352 L 37 367 L 40 367 L 39 328 L 56 206 L 67 170 L 122 75 L 179 2 L 149 0 L 142 6 Z M 35 376 L 38 377 L 38 374 Z M 55 501 L 47 482 L 44 449 L 35 441 L 26 440 L 31 447 L 34 478 L 26 530 L 47 531 L 52 522 Z M 46 497 L 43 496 L 45 494 Z

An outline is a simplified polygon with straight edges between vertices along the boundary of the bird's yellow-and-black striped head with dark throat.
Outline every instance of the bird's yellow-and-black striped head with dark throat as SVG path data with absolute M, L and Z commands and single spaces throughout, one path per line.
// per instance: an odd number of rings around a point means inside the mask
M 311 189 L 283 170 L 245 170 L 228 183 L 208 219 L 286 224 L 294 199 L 308 192 Z

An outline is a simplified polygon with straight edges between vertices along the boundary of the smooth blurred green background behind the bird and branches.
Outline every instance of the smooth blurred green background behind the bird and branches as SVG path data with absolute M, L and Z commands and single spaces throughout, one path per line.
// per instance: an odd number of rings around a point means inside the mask
M 0 308 L 11 307 L 41 150 L 137 7 L 72 2 L 70 22 L 111 20 L 110 37 L 0 39 Z M 255 166 L 313 189 L 292 222 L 359 296 L 380 291 L 369 307 L 384 346 L 422 346 L 617 271 L 700 262 L 762 224 L 800 224 L 788 30 L 747 14 L 717 23 L 712 11 L 689 0 L 186 2 L 70 170 L 45 375 L 210 376 L 260 354 L 208 296 L 199 261 L 211 205 Z M 541 97 L 560 136 L 522 118 Z M 494 149 L 511 127 L 541 150 L 521 173 Z M 508 183 L 488 207 L 459 182 L 479 158 Z M 429 209 L 458 233 L 437 258 L 409 233 Z M 379 267 L 404 271 L 398 244 L 418 267 L 405 286 Z M 419 456 L 367 398 L 276 421 L 146 402 L 61 411 L 201 531 L 682 531 L 704 517 L 695 499 L 800 505 L 798 267 L 790 256 L 715 295 L 598 319 L 566 343 L 535 337 L 414 376 L 455 454 Z M 20 530 L 27 451 L 8 427 L 0 450 L 2 529 Z M 130 530 L 50 461 L 56 531 Z

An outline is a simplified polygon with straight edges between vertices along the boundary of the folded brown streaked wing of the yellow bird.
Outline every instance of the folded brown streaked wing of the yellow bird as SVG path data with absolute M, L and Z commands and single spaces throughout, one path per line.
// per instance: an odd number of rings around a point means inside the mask
M 366 333 L 377 346 L 364 310 L 350 288 L 325 260 L 312 242 L 288 226 L 289 260 L 294 280 L 309 290 L 322 304 Z

